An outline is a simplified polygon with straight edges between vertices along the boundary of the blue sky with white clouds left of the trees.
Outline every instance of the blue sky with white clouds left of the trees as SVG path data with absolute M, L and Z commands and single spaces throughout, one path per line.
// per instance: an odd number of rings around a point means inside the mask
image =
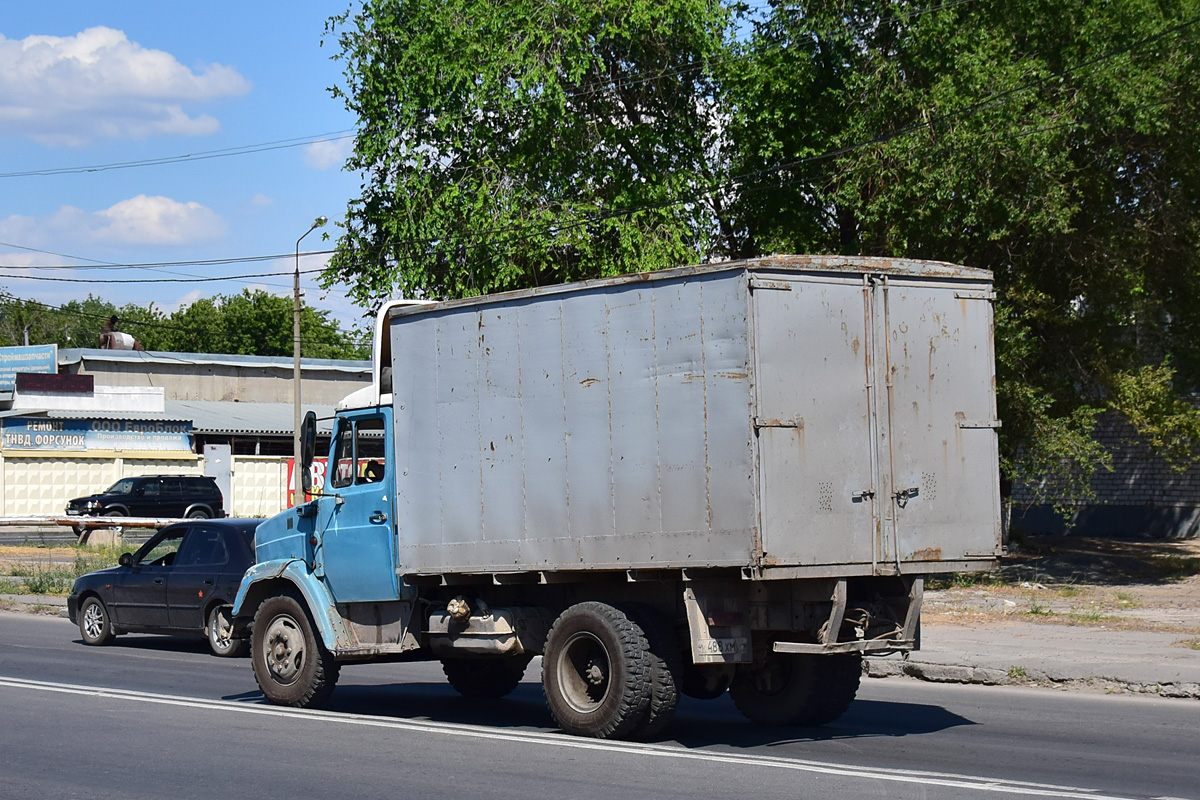
M 348 2 L 5 2 L 0 290 L 166 313 L 245 288 L 290 296 L 296 239 L 325 216 L 300 251 L 330 249 L 360 184 L 342 169 L 355 119 L 329 92 L 336 42 L 322 47 L 325 20 Z M 155 160 L 168 163 L 113 167 Z M 302 257 L 300 269 L 326 259 Z M 361 324 L 344 287 L 316 277 L 301 276 L 305 302 Z M 136 282 L 103 282 L 114 279 Z

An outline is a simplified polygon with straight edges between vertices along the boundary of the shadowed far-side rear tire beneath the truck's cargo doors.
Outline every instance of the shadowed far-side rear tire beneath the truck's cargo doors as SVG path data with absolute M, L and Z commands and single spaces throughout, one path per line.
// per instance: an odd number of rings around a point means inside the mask
M 827 724 L 854 700 L 862 662 L 857 652 L 826 656 L 768 650 L 752 664 L 738 667 L 730 696 L 758 724 Z

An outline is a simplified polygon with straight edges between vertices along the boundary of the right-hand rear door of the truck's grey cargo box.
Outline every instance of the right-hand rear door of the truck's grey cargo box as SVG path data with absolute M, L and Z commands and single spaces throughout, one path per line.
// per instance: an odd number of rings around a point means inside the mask
M 990 293 L 881 278 L 875 285 L 882 560 L 996 553 L 1000 483 Z M 882 341 L 881 341 L 882 339 Z

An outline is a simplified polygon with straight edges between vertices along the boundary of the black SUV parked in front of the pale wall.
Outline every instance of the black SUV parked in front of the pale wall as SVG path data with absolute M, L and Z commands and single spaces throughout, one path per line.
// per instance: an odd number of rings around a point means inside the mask
M 216 480 L 206 475 L 142 475 L 71 500 L 67 516 L 209 519 L 224 516 L 224 498 Z

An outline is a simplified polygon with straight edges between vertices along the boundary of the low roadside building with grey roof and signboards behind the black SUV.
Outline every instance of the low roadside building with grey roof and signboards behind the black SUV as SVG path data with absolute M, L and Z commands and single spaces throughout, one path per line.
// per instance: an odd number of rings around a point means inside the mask
M 59 515 L 146 474 L 212 475 L 230 516 L 287 506 L 290 357 L 64 349 L 55 363 L 0 386 L 0 516 Z M 301 375 L 328 437 L 334 404 L 371 383 L 371 362 L 304 359 Z

